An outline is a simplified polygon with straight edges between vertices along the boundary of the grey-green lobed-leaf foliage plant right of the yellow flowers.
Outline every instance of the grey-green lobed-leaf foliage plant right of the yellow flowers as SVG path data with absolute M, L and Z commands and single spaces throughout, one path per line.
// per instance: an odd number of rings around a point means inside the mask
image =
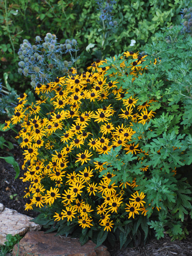
M 148 65 L 144 75 L 133 82 L 125 80 L 126 76 L 119 68 L 120 58 L 115 61 L 108 59 L 105 66 L 110 64 L 119 70 L 116 74 L 120 81 L 125 81 L 122 86 L 128 88 L 128 96 L 134 94 L 140 104 L 149 102 L 151 98 L 156 101 L 149 107 L 156 111 L 155 118 L 145 125 L 133 124 L 135 143 L 142 143 L 142 151 L 147 152 L 147 156 L 143 154 L 141 163 L 148 166 L 147 177 L 139 171 L 135 173 L 136 183 L 151 201 L 146 215 L 157 239 L 163 237 L 167 230 L 175 240 L 188 234 L 185 217 L 192 209 L 191 180 L 186 178 L 192 163 L 192 38 L 177 26 L 163 29 L 156 38 L 157 43 L 145 47 L 145 54 L 155 64 Z M 108 74 L 110 72 L 107 71 Z M 134 172 L 135 163 L 133 160 L 130 162 L 120 148 L 116 150 L 116 157 L 100 156 L 97 160 L 107 161 L 104 171 L 110 170 L 114 174 L 116 163 L 121 165 L 113 181 L 117 182 L 119 176 L 124 181 L 130 180 L 129 170 Z M 175 168 L 181 166 L 185 166 L 183 172 L 172 175 Z M 151 215 L 154 207 L 158 211 Z

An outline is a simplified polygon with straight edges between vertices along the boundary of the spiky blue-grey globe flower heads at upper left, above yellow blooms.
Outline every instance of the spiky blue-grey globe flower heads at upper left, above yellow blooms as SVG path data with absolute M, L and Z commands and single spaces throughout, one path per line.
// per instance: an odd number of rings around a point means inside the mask
M 18 63 L 20 74 L 31 77 L 31 85 L 52 81 L 53 77 L 70 71 L 71 65 L 76 61 L 72 52 L 77 52 L 77 41 L 67 39 L 65 44 L 58 44 L 57 38 L 47 33 L 44 43 L 41 37 L 36 36 L 36 44 L 31 45 L 27 39 L 20 45 Z M 71 61 L 63 60 L 63 54 L 70 54 Z M 73 71 L 73 70 L 72 70 Z

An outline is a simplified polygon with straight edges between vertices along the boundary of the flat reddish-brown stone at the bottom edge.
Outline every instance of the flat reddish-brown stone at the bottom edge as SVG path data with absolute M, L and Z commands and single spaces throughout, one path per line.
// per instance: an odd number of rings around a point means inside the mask
M 56 233 L 44 233 L 43 231 L 31 231 L 26 233 L 19 245 L 15 244 L 13 256 L 110 256 L 107 247 L 96 247 L 89 240 L 82 245 L 78 238 L 55 236 Z

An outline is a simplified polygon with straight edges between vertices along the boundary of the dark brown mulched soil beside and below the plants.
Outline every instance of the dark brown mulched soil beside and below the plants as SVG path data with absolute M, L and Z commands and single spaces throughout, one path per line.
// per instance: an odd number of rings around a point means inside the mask
M 2 122 L 2 120 L 0 120 Z M 20 177 L 23 175 L 21 165 L 23 163 L 22 152 L 15 142 L 16 134 L 12 131 L 0 132 L 6 140 L 14 144 L 14 148 L 9 151 L 0 149 L 0 156 L 6 157 L 12 155 L 20 166 L 20 176 L 15 180 L 15 170 L 6 163 L 5 160 L 0 159 L 0 203 L 9 209 L 15 209 L 17 212 L 35 218 L 38 213 L 32 210 L 25 211 L 26 198 L 23 198 L 25 193 L 23 190 L 26 183 L 23 183 Z M 181 241 L 171 241 L 171 238 L 165 234 L 163 239 L 150 239 L 147 244 L 138 247 L 127 247 L 119 249 L 119 243 L 115 247 L 108 246 L 108 251 L 111 256 L 192 256 L 192 230 L 189 230 L 189 235 L 186 239 Z

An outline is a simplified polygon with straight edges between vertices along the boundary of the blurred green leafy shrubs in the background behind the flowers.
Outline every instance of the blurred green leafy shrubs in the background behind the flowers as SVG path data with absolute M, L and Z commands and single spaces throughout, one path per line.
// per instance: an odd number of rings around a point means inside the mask
M 47 32 L 56 34 L 61 44 L 63 38 L 76 38 L 78 65 L 84 70 L 95 55 L 105 58 L 116 52 L 142 51 L 146 42 L 156 40 L 154 33 L 160 27 L 180 23 L 178 14 L 189 3 L 188 0 L 1 1 L 0 73 L 7 73 L 11 86 L 20 92 L 28 89 L 28 80 L 20 81 L 17 73 L 17 51 L 22 38 L 34 44 L 35 35 L 43 38 Z M 132 41 L 135 44 L 130 46 Z

